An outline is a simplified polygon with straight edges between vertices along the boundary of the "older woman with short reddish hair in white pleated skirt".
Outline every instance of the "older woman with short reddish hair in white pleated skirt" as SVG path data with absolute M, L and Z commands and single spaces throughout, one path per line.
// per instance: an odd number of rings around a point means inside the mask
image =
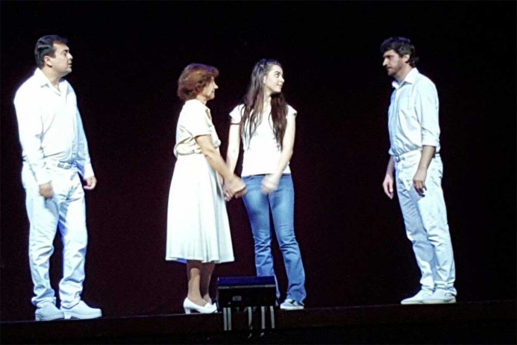
M 206 107 L 215 97 L 218 74 L 215 67 L 190 64 L 178 79 L 178 97 L 185 104 L 176 128 L 165 260 L 187 263 L 186 313 L 216 311 L 208 291 L 214 266 L 234 260 L 221 178 L 229 198 L 245 192 L 219 153 L 221 141 Z

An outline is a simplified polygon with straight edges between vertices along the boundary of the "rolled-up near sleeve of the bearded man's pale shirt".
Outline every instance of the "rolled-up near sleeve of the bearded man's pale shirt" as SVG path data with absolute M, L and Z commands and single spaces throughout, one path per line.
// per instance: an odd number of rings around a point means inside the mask
M 421 127 L 422 145 L 438 147 L 440 143 L 438 93 L 433 83 L 419 85 L 415 107 Z

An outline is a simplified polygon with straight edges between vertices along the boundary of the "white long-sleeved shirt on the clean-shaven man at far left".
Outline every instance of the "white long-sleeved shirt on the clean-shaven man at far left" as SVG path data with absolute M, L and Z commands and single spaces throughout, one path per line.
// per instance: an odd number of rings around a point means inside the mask
M 77 97 L 64 79 L 59 90 L 36 68 L 14 96 L 23 160 L 38 184 L 51 181 L 49 168 L 77 165 L 83 178 L 94 175 Z

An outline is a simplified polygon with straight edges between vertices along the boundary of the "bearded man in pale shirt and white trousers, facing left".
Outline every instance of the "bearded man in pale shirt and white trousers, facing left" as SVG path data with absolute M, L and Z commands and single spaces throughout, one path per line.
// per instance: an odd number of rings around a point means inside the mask
M 436 87 L 416 69 L 415 47 L 409 39 L 390 37 L 382 43 L 381 53 L 388 76 L 395 79 L 388 110 L 390 158 L 383 188 L 393 199 L 396 180 L 406 234 L 422 273 L 420 291 L 401 303 L 454 303 L 455 269 L 442 191 Z

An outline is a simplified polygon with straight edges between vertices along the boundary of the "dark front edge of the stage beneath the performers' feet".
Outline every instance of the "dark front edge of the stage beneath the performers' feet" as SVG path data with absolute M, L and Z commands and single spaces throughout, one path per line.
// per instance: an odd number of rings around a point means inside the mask
M 260 319 L 260 308 L 253 318 Z M 275 328 L 248 328 L 248 313 L 165 314 L 93 320 L 1 322 L 9 343 L 516 343 L 517 304 L 379 305 L 275 310 Z M 255 319 L 253 319 L 255 320 Z

